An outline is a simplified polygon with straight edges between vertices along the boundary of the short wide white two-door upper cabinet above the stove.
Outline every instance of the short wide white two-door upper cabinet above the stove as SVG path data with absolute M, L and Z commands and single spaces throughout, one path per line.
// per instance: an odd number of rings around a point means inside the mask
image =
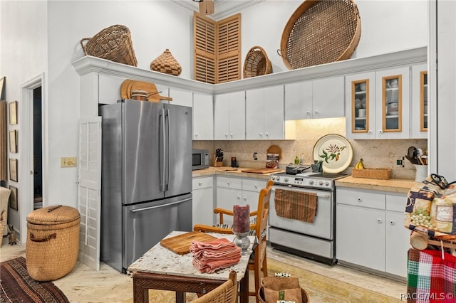
M 343 77 L 285 85 L 285 119 L 344 117 Z

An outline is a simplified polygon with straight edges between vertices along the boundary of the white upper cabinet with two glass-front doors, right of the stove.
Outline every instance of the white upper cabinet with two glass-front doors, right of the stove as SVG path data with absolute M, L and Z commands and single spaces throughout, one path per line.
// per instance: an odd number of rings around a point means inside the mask
M 410 138 L 410 68 L 346 77 L 348 139 Z

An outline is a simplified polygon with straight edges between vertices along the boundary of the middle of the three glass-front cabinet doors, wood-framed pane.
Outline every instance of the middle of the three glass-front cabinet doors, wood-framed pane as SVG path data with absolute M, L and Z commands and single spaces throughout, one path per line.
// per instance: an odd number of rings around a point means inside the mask
M 410 68 L 382 70 L 375 73 L 376 137 L 410 137 Z

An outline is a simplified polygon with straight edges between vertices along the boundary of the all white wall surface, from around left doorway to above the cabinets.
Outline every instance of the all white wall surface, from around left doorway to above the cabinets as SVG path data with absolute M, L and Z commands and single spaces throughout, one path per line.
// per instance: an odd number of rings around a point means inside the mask
M 190 0 L 189 0 L 190 1 Z M 252 46 L 269 55 L 274 73 L 286 70 L 279 55 L 281 34 L 302 1 L 266 0 L 242 11 L 242 60 Z M 358 0 L 361 40 L 353 58 L 427 45 L 426 1 Z M 78 155 L 79 76 L 71 63 L 83 56 L 81 38 L 113 24 L 130 28 L 138 68 L 169 48 L 182 65 L 181 78 L 192 78 L 193 12 L 172 1 L 0 1 L 0 67 L 6 98 L 18 100 L 20 85 L 45 73 L 43 113 L 47 125 L 46 205 L 77 205 L 77 169 L 62 169 L 60 158 Z M 19 126 L 21 128 L 21 117 Z M 21 136 L 21 132 L 19 132 Z M 19 154 L 21 155 L 21 146 Z M 21 161 L 19 161 L 21 165 Z M 19 170 L 19 205 L 21 176 Z M 12 212 L 10 212 L 12 213 Z M 24 218 L 24 216 L 21 216 Z M 18 225 L 18 224 L 16 224 Z

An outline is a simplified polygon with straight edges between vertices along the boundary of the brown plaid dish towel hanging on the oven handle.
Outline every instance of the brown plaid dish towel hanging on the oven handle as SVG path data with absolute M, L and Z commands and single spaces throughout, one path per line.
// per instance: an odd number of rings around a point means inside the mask
M 276 188 L 274 203 L 277 216 L 314 223 L 318 206 L 317 199 L 316 193 Z

